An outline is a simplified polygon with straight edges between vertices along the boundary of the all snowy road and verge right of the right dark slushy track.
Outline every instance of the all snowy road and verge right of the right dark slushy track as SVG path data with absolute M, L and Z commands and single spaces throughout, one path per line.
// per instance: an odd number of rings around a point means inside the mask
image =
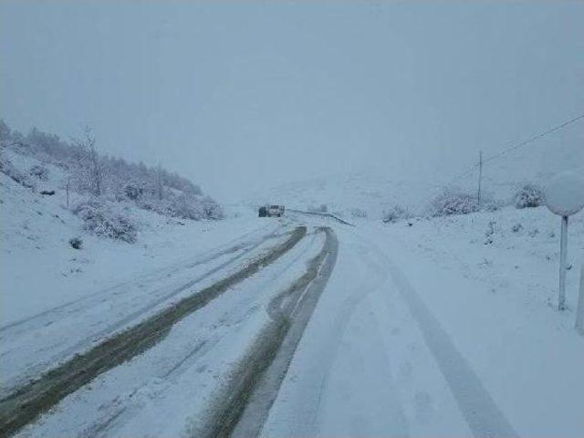
M 556 220 L 540 207 L 337 226 L 338 264 L 263 436 L 579 436 L 579 273 L 558 312 Z

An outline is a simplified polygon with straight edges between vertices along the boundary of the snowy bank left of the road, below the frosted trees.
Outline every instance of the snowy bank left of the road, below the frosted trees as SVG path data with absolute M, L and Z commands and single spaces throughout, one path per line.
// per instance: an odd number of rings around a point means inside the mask
M 18 169 L 26 170 L 36 160 L 4 151 Z M 252 220 L 176 220 L 120 203 L 139 226 L 138 241 L 130 245 L 105 237 L 89 235 L 78 216 L 66 208 L 63 189 L 65 174 L 45 163 L 46 182 L 37 182 L 35 191 L 0 173 L 0 266 L 3 291 L 2 325 L 36 314 L 46 308 L 100 289 L 193 259 L 214 246 L 249 233 L 261 224 Z M 56 190 L 53 196 L 39 194 Z M 81 198 L 71 193 L 70 204 Z M 73 249 L 68 241 L 79 236 L 83 248 Z

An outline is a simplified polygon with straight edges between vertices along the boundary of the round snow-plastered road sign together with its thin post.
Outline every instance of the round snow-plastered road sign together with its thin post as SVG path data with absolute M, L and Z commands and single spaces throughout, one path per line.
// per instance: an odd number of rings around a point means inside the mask
M 558 173 L 546 186 L 547 208 L 561 216 L 559 243 L 558 310 L 566 309 L 566 271 L 568 270 L 568 216 L 584 208 L 584 178 L 573 172 Z

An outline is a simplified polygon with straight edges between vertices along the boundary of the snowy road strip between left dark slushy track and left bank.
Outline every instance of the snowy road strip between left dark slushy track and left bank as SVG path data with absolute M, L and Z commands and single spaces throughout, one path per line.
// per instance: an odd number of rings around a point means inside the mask
M 98 290 L 0 328 L 0 395 L 83 352 L 217 279 L 287 237 L 286 230 L 254 233 L 188 261 Z

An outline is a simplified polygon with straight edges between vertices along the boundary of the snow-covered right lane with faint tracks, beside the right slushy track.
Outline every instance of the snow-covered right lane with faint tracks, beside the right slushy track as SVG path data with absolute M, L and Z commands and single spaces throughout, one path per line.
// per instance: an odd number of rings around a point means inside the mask
M 401 270 L 370 239 L 337 232 L 335 292 L 322 297 L 263 435 L 516 436 Z

